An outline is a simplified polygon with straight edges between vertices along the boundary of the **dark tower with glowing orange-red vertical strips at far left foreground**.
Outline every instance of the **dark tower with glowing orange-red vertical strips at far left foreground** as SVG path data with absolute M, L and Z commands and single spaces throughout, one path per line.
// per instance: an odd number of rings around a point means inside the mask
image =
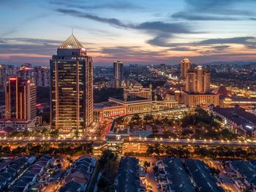
M 36 118 L 37 88 L 31 80 L 9 77 L 5 89 L 5 118 L 33 120 Z

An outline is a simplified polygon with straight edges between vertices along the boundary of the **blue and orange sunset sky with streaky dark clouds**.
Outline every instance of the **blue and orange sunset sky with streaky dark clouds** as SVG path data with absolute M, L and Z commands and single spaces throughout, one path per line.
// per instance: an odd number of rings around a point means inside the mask
M 255 0 L 0 0 L 0 64 L 49 65 L 72 34 L 95 65 L 256 61 Z

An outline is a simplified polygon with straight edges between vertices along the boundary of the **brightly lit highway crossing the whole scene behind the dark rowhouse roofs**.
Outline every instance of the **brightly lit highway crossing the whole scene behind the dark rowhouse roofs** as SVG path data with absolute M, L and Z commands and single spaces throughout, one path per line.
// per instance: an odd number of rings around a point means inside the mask
M 113 138 L 113 137 L 112 137 Z M 116 137 L 117 138 L 117 137 Z M 89 142 L 129 142 L 135 144 L 154 145 L 156 143 L 163 145 L 227 145 L 227 146 L 252 146 L 256 147 L 256 141 L 229 141 L 229 140 L 211 140 L 211 139 L 162 139 L 147 137 L 126 137 L 124 139 L 106 139 L 100 137 L 78 137 L 78 138 L 55 138 L 55 137 L 1 137 L 1 143 L 45 143 L 45 142 L 73 142 L 73 143 L 89 143 Z

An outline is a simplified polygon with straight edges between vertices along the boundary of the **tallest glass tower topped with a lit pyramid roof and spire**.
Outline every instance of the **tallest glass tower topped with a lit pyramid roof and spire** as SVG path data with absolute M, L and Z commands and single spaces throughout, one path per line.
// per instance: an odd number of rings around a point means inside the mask
M 50 60 L 51 126 L 63 134 L 93 123 L 93 62 L 72 34 Z

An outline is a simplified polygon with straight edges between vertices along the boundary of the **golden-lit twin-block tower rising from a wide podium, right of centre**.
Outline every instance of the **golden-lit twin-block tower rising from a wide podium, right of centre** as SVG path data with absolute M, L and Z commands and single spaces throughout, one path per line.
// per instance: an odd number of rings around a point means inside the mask
M 210 89 L 211 74 L 203 66 L 189 69 L 186 77 L 186 91 L 189 93 L 207 93 Z

